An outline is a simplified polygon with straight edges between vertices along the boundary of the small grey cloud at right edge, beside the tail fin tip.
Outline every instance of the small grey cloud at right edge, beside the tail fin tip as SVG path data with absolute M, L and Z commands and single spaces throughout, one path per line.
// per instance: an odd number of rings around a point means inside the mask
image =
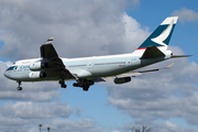
M 176 10 L 172 13 L 172 15 L 179 16 L 179 20 L 182 22 L 188 21 L 198 21 L 198 12 L 195 12 L 194 10 L 182 8 L 180 10 Z

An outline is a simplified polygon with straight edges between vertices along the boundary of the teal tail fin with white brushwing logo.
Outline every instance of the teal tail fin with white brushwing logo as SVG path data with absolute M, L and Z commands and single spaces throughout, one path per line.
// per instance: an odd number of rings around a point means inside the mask
M 166 18 L 138 50 L 145 50 L 148 46 L 167 50 L 177 19 L 178 16 Z

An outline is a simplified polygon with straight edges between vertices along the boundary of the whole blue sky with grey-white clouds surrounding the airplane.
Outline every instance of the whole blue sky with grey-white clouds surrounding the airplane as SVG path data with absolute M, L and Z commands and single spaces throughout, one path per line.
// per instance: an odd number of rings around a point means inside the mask
M 36 132 L 198 132 L 198 1 L 0 0 L 0 130 Z M 40 57 L 50 36 L 62 57 L 132 53 L 167 16 L 179 20 L 173 53 L 194 55 L 155 64 L 166 70 L 121 86 L 101 82 L 88 92 L 57 82 L 18 84 L 3 76 L 13 62 Z

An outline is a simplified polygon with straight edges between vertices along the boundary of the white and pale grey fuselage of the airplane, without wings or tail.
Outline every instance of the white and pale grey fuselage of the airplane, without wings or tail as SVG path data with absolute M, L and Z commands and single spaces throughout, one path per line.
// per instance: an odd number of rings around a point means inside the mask
M 61 58 L 72 74 L 78 78 L 94 79 L 98 77 L 116 76 L 128 73 L 157 62 L 168 59 L 170 51 L 166 51 L 165 57 L 152 59 L 140 59 L 140 54 L 110 55 L 110 56 L 92 56 L 81 58 Z M 142 53 L 141 53 L 142 55 Z M 42 81 L 42 80 L 59 80 L 61 76 L 57 72 L 50 69 L 31 70 L 30 64 L 38 62 L 41 58 L 18 61 L 9 67 L 4 76 L 16 81 Z M 37 78 L 40 72 L 45 70 L 45 78 Z M 65 77 L 65 80 L 72 80 L 72 77 Z

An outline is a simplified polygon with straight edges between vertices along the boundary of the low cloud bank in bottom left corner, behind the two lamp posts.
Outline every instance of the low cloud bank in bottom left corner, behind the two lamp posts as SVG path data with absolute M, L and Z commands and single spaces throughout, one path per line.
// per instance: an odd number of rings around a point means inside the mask
M 4 103 L 0 107 L 0 129 L 3 132 L 32 132 L 38 130 L 37 125 L 41 123 L 42 131 L 51 127 L 53 131 L 58 132 L 105 132 L 90 119 L 67 119 L 73 113 L 74 110 L 65 102 Z

